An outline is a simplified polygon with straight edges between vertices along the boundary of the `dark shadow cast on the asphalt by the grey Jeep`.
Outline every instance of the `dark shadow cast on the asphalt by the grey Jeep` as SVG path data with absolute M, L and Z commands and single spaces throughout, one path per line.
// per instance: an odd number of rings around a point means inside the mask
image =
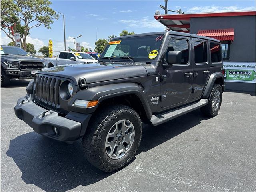
M 160 126 L 144 125 L 138 154 L 200 124 L 203 119 L 206 118 L 196 110 Z M 34 184 L 45 191 L 71 190 L 114 174 L 102 172 L 86 160 L 81 140 L 68 145 L 35 132 L 11 140 L 7 156 L 13 158 L 26 184 Z

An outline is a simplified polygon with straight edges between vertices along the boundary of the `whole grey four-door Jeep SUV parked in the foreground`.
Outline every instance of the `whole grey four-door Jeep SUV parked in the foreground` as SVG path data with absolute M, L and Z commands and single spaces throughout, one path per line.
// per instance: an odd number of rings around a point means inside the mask
M 112 172 L 128 164 L 142 122 L 162 124 L 192 110 L 216 116 L 224 77 L 220 41 L 180 32 L 112 39 L 101 62 L 39 71 L 15 114 L 35 132 L 73 142 Z

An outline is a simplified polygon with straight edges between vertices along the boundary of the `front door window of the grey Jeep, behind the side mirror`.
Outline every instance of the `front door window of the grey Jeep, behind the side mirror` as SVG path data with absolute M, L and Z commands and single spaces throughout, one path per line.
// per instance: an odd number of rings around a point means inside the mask
M 169 51 L 181 51 L 181 64 L 187 64 L 189 58 L 188 40 L 170 39 L 166 52 L 166 58 Z

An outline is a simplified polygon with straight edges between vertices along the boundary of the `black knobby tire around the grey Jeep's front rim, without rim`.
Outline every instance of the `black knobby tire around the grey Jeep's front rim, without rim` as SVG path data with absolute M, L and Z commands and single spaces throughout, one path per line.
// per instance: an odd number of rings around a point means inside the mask
M 119 120 L 127 119 L 134 125 L 134 142 L 125 156 L 112 159 L 105 149 L 106 136 Z M 142 137 L 142 122 L 139 114 L 125 105 L 108 106 L 98 110 L 88 124 L 82 144 L 87 160 L 104 172 L 116 171 L 127 165 L 135 156 Z

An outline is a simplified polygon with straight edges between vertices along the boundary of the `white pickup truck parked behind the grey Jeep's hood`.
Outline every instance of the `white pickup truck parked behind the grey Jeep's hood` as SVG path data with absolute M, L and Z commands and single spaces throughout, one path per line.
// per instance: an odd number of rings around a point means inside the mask
M 95 63 L 92 56 L 84 52 L 62 51 L 58 54 L 57 58 L 45 57 L 45 66 L 53 67 L 56 65 L 66 65 L 74 63 Z

